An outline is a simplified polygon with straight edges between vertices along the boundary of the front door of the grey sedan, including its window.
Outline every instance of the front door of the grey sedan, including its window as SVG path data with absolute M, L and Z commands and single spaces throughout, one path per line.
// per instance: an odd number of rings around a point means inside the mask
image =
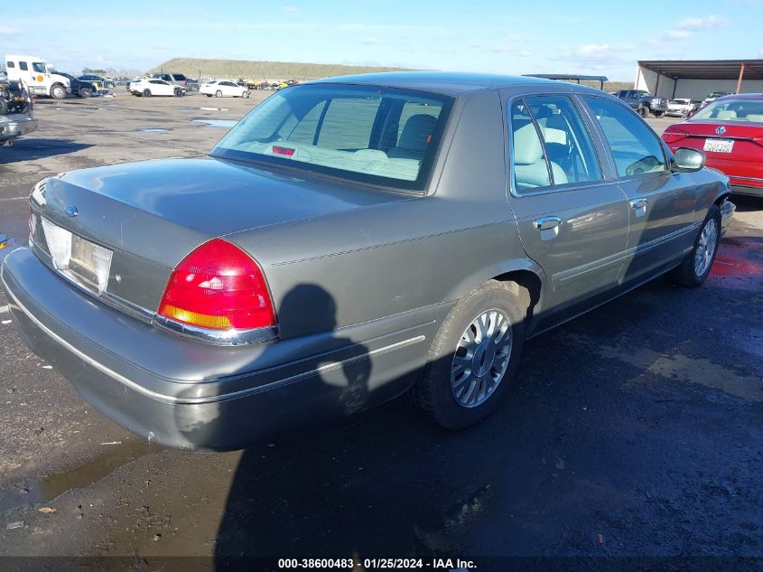
M 611 98 L 583 96 L 609 145 L 619 187 L 628 197 L 628 253 L 620 282 L 645 280 L 693 246 L 696 190 L 691 173 L 670 170 L 665 147 L 647 124 Z

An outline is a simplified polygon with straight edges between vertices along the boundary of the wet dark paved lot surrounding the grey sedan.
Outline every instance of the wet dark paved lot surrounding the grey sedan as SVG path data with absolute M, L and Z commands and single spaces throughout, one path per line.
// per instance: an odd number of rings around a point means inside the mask
M 197 119 L 236 120 L 265 95 L 40 102 L 38 131 L 0 148 L 0 233 L 24 244 L 42 177 L 203 155 L 227 127 Z M 0 556 L 123 556 L 143 569 L 203 557 L 184 570 L 242 554 L 758 569 L 763 201 L 734 202 L 705 286 L 656 279 L 529 342 L 505 407 L 460 433 L 399 399 L 244 452 L 147 445 L 26 349 L 0 293 Z M 572 558 L 587 556 L 660 559 Z

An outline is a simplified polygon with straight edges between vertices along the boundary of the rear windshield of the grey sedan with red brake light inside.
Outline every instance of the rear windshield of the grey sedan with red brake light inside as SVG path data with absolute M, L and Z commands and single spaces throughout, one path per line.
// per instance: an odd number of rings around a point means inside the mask
M 254 108 L 211 155 L 421 191 L 451 105 L 407 89 L 294 86 Z

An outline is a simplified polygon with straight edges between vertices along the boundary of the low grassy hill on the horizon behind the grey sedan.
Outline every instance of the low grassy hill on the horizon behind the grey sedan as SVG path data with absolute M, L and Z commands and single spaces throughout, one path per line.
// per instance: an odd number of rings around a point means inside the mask
M 191 78 L 244 78 L 247 80 L 317 80 L 351 73 L 400 71 L 405 68 L 348 66 L 298 61 L 203 60 L 200 58 L 172 58 L 149 70 L 184 73 Z

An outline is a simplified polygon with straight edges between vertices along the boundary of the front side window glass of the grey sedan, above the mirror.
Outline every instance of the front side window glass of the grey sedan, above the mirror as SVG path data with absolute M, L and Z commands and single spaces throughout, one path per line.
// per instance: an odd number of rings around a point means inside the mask
M 620 177 L 667 171 L 662 144 L 631 109 L 609 99 L 583 99 L 599 121 Z

